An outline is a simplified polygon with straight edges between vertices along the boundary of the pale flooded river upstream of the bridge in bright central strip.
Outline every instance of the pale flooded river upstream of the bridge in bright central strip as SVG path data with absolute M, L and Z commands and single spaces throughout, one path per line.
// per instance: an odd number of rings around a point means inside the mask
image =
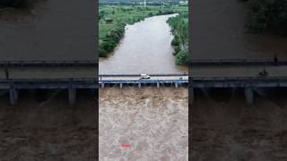
M 126 26 L 125 37 L 109 58 L 100 58 L 100 73 L 181 73 L 175 64 L 170 42 L 173 36 L 166 21 L 172 15 L 146 18 Z

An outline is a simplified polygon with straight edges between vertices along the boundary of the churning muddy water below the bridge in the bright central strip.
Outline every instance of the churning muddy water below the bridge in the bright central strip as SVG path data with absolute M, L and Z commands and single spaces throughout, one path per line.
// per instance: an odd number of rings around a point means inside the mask
M 170 87 L 100 89 L 100 160 L 187 161 L 187 93 Z

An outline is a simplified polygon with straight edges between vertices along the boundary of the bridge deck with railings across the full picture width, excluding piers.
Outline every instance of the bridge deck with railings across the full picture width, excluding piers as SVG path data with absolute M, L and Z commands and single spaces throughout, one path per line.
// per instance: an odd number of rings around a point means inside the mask
M 8 69 L 9 80 L 4 69 Z M 97 78 L 94 66 L 9 66 L 0 65 L 0 89 L 95 89 L 101 84 L 187 84 L 195 88 L 287 87 L 287 65 L 266 66 L 267 77 L 260 77 L 261 66 L 196 66 L 188 74 L 104 74 Z

